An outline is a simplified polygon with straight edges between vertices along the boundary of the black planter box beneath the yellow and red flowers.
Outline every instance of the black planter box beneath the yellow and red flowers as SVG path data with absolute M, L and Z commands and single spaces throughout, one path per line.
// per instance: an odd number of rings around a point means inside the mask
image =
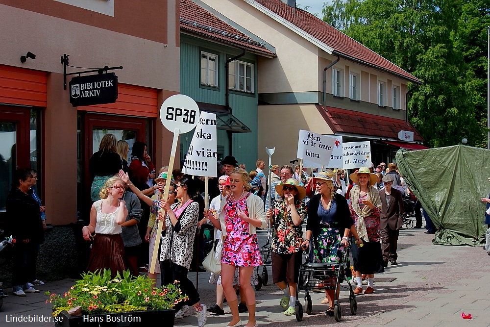
M 63 318 L 63 320 L 56 322 L 56 327 L 147 327 L 155 322 L 160 322 L 165 326 L 173 326 L 175 310 L 147 310 L 81 316 L 70 316 L 67 312 L 62 312 L 57 318 Z

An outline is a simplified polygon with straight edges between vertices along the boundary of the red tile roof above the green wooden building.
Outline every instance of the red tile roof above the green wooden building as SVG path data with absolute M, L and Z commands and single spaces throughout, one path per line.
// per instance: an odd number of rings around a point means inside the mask
M 270 56 L 275 54 L 191 0 L 180 0 L 180 29 Z

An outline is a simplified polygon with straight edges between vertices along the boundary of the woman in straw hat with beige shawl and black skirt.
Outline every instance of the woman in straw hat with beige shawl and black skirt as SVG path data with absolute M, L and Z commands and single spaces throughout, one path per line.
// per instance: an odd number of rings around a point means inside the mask
M 371 294 L 374 292 L 374 274 L 385 271 L 379 240 L 381 201 L 378 190 L 372 186 L 376 183 L 378 176 L 372 174 L 368 167 L 361 167 L 357 173 L 350 174 L 350 179 L 356 184 L 350 191 L 350 214 L 354 219 L 357 233 L 364 242 L 363 248 L 352 248 L 357 279 L 354 294 L 363 291 L 362 274 L 368 275 L 368 287 L 364 294 Z

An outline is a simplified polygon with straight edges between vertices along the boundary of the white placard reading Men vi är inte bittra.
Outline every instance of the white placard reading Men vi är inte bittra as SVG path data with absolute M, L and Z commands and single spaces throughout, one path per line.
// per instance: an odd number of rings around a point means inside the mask
M 297 157 L 303 159 L 303 167 L 305 160 L 321 166 L 330 161 L 334 146 L 334 138 L 300 129 Z

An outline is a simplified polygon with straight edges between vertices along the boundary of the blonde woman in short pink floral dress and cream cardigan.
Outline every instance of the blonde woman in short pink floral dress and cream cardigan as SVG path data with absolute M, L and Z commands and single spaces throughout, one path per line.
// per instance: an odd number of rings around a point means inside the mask
M 245 327 L 256 327 L 255 292 L 250 279 L 255 267 L 262 264 L 256 228 L 266 228 L 264 202 L 258 196 L 248 192 L 250 179 L 243 169 L 235 168 L 230 174 L 229 194 L 221 201 L 219 220 L 206 213 L 213 225 L 223 234 L 221 256 L 221 283 L 233 318 L 228 326 L 242 326 L 238 312 L 238 299 L 233 288 L 233 277 L 238 268 L 240 286 L 245 293 L 248 308 L 248 322 Z

